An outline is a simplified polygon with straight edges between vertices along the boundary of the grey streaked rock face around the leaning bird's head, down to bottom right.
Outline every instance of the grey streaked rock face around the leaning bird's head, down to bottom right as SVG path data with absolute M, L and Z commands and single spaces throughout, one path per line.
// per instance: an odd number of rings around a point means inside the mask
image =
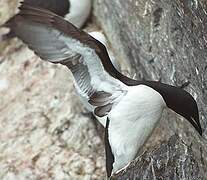
M 206 1 L 96 0 L 94 11 L 124 69 L 190 92 L 204 131 L 199 137 L 185 119 L 166 111 L 147 152 L 115 178 L 207 179 Z

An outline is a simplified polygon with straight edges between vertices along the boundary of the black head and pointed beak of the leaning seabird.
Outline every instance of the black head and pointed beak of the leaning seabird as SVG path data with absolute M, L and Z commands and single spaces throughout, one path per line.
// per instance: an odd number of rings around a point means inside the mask
M 198 106 L 195 99 L 188 92 L 159 82 L 147 82 L 147 85 L 158 91 L 165 100 L 167 107 L 187 119 L 202 135 Z

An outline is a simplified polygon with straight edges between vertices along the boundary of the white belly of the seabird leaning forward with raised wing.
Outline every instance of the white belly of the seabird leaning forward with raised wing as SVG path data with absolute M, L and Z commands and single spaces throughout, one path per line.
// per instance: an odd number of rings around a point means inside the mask
M 152 88 L 145 85 L 129 87 L 126 96 L 108 115 L 109 142 L 115 157 L 113 172 L 135 158 L 165 106 L 162 96 Z

